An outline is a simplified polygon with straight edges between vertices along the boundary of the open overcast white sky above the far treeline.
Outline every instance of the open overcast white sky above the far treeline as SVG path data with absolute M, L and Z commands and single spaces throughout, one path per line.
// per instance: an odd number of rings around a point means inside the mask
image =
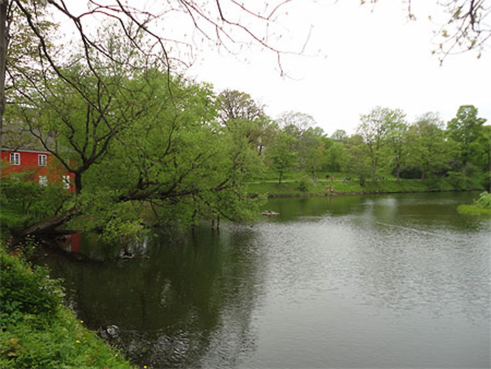
M 282 57 L 293 78 L 281 77 L 276 56 L 260 51 L 240 57 L 201 53 L 188 74 L 211 82 L 218 92 L 249 93 L 272 117 L 285 111 L 310 114 L 329 135 L 336 129 L 354 133 L 359 115 L 378 105 L 402 109 L 409 122 L 429 111 L 446 122 L 459 106 L 472 104 L 490 124 L 491 50 L 480 59 L 472 52 L 449 56 L 440 66 L 431 55 L 432 31 L 438 28 L 428 15 L 441 15 L 433 3 L 413 0 L 417 20 L 409 21 L 401 0 L 380 0 L 374 8 L 358 0 L 298 1 L 282 18 L 285 27 L 295 27 L 287 39 L 293 51 L 313 28 L 305 55 Z M 317 57 L 308 56 L 318 50 Z

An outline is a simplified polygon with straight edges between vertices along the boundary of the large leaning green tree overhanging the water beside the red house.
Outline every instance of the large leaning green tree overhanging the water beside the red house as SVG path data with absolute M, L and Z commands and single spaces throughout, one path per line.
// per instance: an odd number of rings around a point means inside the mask
M 40 86 L 28 106 L 16 105 L 31 134 L 76 175 L 77 191 L 62 204 L 64 221 L 127 239 L 149 209 L 146 219 L 163 226 L 257 214 L 258 200 L 247 197 L 242 182 L 259 156 L 245 136 L 216 122 L 210 86 L 146 69 L 112 74 L 102 88 L 74 68 L 80 89 L 105 107 L 104 115 L 57 79 Z

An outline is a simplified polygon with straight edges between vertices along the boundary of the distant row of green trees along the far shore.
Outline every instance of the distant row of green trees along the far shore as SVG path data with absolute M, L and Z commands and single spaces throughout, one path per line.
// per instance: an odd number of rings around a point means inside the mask
M 490 186 L 491 126 L 472 105 L 461 106 L 446 124 L 436 113 L 408 122 L 399 109 L 376 107 L 360 116 L 354 135 L 337 130 L 327 137 L 310 115 L 272 120 L 245 93 L 224 91 L 218 101 L 221 123 L 248 139 L 279 182 L 285 172 L 301 170 L 313 179 L 321 172 L 350 173 L 361 184 L 393 175 L 445 178 L 456 190 Z

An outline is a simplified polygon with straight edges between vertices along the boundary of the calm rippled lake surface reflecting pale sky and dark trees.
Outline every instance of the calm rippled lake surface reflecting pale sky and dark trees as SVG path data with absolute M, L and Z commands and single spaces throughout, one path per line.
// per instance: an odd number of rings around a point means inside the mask
M 490 368 L 490 217 L 476 193 L 272 199 L 254 227 L 82 237 L 40 263 L 154 368 Z

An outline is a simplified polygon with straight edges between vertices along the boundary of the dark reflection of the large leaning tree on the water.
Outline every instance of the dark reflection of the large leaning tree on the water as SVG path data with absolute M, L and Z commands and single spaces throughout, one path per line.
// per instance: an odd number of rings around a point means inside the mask
M 67 300 L 89 328 L 119 328 L 106 338 L 133 362 L 158 368 L 229 365 L 239 351 L 253 350 L 250 316 L 263 284 L 255 233 L 228 227 L 233 231 L 222 225 L 215 235 L 198 227 L 178 239 L 148 236 L 129 259 L 114 258 L 118 245 L 84 236 L 81 253 L 90 259 L 54 253 L 39 262 L 65 279 Z M 219 355 L 207 356 L 210 351 Z

